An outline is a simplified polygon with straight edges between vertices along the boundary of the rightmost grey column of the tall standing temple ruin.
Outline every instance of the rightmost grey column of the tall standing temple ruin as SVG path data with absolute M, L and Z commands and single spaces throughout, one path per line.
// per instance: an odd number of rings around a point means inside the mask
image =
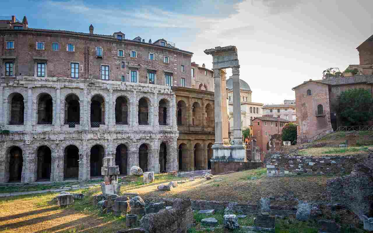
M 233 75 L 233 140 L 232 144 L 242 144 L 241 101 L 239 96 L 239 66 L 232 67 Z

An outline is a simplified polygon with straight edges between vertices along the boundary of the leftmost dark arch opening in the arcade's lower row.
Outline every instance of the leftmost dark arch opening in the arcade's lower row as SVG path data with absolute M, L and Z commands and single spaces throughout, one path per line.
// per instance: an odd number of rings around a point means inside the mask
M 8 149 L 7 154 L 9 154 L 9 166 L 6 167 L 6 172 L 9 174 L 8 182 L 21 182 L 23 168 L 22 149 L 13 146 Z

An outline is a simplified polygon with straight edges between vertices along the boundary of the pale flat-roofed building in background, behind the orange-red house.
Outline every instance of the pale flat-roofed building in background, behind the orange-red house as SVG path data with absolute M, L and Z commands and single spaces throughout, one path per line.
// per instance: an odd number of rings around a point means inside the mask
M 291 122 L 297 120 L 295 100 L 284 100 L 283 104 L 266 104 L 262 107 L 264 115 L 273 115 Z

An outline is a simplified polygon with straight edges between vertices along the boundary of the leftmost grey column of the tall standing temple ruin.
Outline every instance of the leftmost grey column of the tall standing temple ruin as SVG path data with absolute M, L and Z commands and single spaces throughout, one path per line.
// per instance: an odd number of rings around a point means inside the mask
M 223 144 L 222 89 L 220 69 L 214 69 L 215 144 Z

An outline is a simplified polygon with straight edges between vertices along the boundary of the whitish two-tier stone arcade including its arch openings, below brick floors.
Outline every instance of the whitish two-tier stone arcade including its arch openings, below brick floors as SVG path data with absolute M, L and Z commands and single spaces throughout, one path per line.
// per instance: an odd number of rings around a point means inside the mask
M 1 84 L 0 100 L 0 125 L 11 131 L 0 137 L 1 183 L 89 180 L 101 176 L 104 156 L 126 164 L 121 174 L 139 165 L 159 173 L 160 162 L 178 169 L 169 86 L 23 76 Z

